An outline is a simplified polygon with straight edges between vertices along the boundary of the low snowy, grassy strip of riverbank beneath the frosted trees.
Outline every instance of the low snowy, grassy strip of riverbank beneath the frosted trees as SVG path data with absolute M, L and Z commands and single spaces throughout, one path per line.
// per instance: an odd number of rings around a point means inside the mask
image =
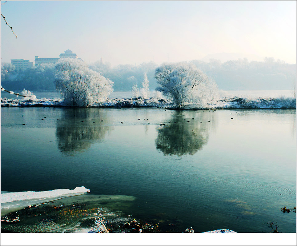
M 7 99 L 1 98 L 2 107 L 64 107 L 62 99 Z M 106 99 L 95 102 L 93 107 L 167 107 L 174 109 L 170 100 L 154 98 L 123 98 Z M 215 104 L 207 105 L 188 105 L 183 109 L 296 109 L 296 98 L 243 98 L 243 97 L 225 97 Z

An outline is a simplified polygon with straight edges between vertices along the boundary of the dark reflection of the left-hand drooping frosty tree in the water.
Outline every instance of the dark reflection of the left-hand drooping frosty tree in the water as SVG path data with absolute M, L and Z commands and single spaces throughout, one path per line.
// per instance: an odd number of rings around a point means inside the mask
M 102 121 L 102 119 L 104 119 Z M 81 152 L 91 144 L 103 140 L 113 128 L 106 111 L 96 108 L 65 109 L 57 120 L 58 149 L 63 153 Z

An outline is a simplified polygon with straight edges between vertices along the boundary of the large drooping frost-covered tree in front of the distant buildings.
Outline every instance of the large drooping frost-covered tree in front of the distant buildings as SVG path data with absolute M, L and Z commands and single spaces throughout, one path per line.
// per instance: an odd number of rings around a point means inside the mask
M 88 107 L 113 91 L 113 82 L 79 59 L 63 58 L 55 65 L 56 90 L 69 106 Z

